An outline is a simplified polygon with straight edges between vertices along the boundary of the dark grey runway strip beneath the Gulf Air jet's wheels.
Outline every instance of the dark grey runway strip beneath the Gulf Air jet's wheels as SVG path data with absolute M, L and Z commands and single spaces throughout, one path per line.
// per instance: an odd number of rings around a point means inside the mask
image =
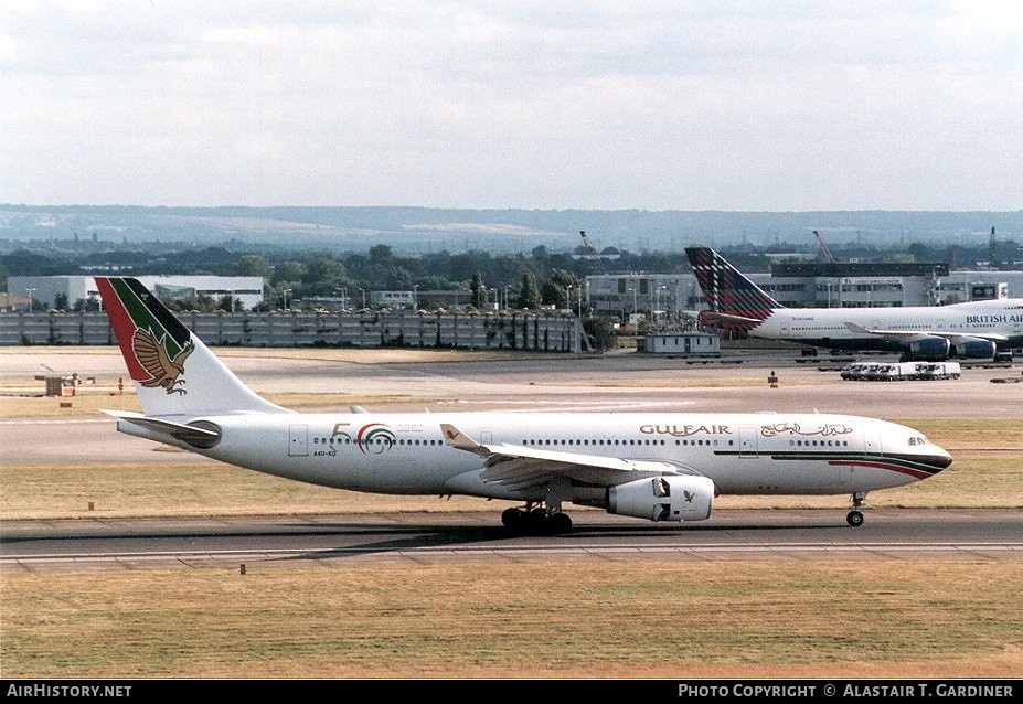
M 1023 558 L 1023 511 L 722 511 L 691 524 L 573 512 L 565 535 L 514 536 L 495 512 L 18 521 L 0 537 L 0 570 L 219 567 L 264 569 L 365 561 L 597 559 L 871 562 Z

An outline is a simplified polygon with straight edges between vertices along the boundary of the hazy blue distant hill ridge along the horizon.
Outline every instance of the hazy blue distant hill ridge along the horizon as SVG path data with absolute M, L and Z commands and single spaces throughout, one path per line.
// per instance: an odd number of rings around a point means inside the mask
M 25 243 L 94 243 L 104 248 L 147 243 L 236 245 L 365 252 L 379 244 L 396 254 L 528 253 L 536 246 L 571 252 L 586 231 L 594 246 L 630 252 L 681 252 L 691 244 L 724 247 L 793 243 L 814 247 L 817 230 L 831 245 L 862 242 L 892 247 L 1023 241 L 1023 211 L 592 211 L 454 210 L 428 207 L 142 207 L 0 204 L 0 250 Z M 64 244 L 64 242 L 61 242 Z

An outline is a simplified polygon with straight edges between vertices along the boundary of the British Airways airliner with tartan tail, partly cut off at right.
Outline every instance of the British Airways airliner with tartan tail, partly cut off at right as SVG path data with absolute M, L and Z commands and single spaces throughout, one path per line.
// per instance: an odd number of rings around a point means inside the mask
M 812 348 L 899 352 L 904 361 L 1012 359 L 1023 346 L 1023 298 L 914 308 L 786 308 L 707 247 L 689 247 L 711 310 L 702 323 Z

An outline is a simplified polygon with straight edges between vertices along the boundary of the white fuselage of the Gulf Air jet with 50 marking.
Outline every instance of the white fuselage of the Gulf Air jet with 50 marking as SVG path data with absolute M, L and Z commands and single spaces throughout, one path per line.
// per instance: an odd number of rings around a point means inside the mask
M 483 459 L 449 447 L 443 423 L 489 446 L 669 463 L 708 477 L 726 494 L 865 492 L 917 481 L 950 461 L 912 428 L 828 414 L 252 414 L 201 422 L 217 428 L 220 441 L 183 447 L 279 477 L 396 494 L 543 499 L 480 477 Z M 639 469 L 635 477 L 659 473 Z M 599 503 L 603 492 L 574 482 L 572 500 Z

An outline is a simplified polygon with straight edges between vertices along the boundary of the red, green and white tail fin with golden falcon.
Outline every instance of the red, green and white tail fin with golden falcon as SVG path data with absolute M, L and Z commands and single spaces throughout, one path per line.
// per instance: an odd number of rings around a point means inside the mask
M 146 416 L 290 413 L 248 388 L 138 279 L 96 286 Z

